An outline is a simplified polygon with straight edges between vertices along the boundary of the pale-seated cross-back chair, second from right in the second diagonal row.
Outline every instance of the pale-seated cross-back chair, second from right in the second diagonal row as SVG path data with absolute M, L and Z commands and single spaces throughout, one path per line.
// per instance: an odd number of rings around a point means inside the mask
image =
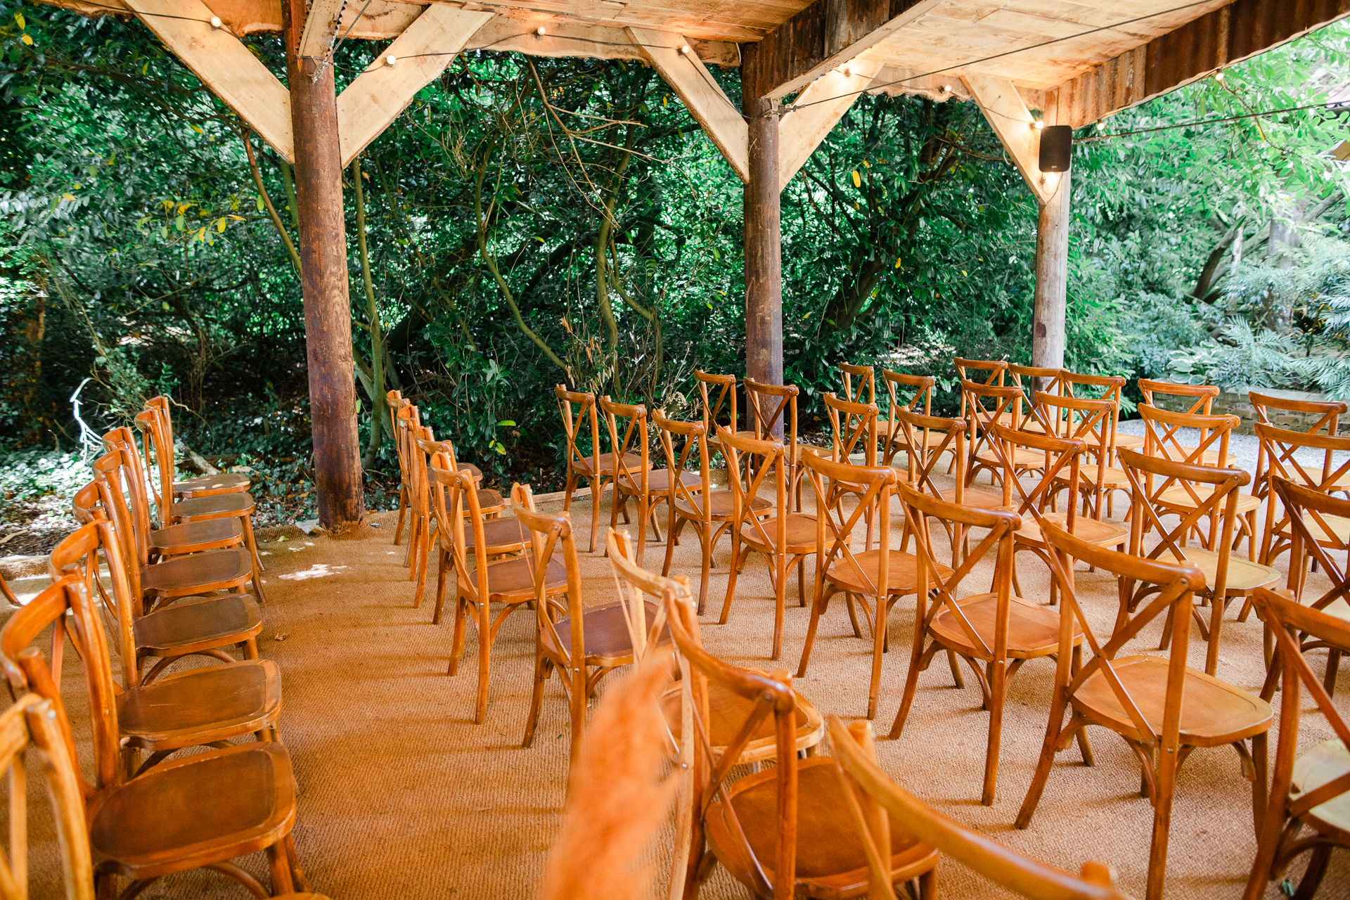
M 1219 631 L 1228 603 L 1234 598 L 1250 598 L 1258 587 L 1280 580 L 1280 572 L 1269 565 L 1233 557 L 1233 532 L 1238 519 L 1239 488 L 1251 476 L 1239 468 L 1173 463 L 1131 449 L 1120 451 L 1120 466 L 1125 467 L 1125 474 L 1130 480 L 1133 498 L 1130 553 L 1166 563 L 1189 563 L 1204 572 L 1204 584 L 1196 587 L 1196 591 L 1210 600 L 1208 623 L 1200 615 L 1200 610 L 1193 610 L 1193 613 L 1200 636 L 1210 645 L 1206 652 L 1204 671 L 1214 675 L 1219 665 Z M 1172 495 L 1176 490 L 1185 491 L 1191 498 L 1189 509 L 1184 513 L 1174 513 L 1174 505 L 1166 505 L 1158 499 Z M 1170 528 L 1162 521 L 1162 517 L 1169 513 L 1176 514 L 1180 519 Z M 1188 536 L 1206 518 L 1219 524 L 1218 540 L 1211 541 L 1208 549 L 1187 546 Z M 1152 530 L 1158 533 L 1160 540 L 1152 551 L 1145 552 L 1143 536 Z M 1122 595 L 1120 599 L 1122 607 L 1118 621 L 1123 622 L 1127 614 L 1143 599 L 1143 595 L 1137 594 L 1130 598 Z M 1245 617 L 1246 609 L 1243 609 Z M 1158 644 L 1160 650 L 1166 649 L 1173 625 L 1169 621 L 1168 627 L 1164 629 L 1162 641 Z

